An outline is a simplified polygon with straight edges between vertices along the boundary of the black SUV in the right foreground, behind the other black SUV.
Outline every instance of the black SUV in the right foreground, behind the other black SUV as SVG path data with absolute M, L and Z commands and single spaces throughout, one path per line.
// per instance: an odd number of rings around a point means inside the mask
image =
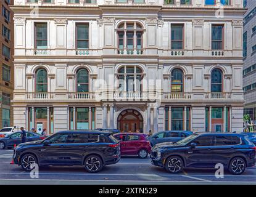
M 215 167 L 221 163 L 232 174 L 255 165 L 255 145 L 243 134 L 196 133 L 176 143 L 152 148 L 151 163 L 178 173 L 183 167 Z

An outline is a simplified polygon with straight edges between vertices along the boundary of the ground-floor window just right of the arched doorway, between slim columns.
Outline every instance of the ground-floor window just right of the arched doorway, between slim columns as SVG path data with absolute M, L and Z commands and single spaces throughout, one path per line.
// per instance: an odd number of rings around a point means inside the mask
M 183 107 L 171 108 L 171 129 L 183 131 Z

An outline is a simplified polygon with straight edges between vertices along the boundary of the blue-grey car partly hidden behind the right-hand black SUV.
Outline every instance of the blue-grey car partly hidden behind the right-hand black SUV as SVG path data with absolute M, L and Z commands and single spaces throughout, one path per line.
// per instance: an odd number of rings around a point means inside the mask
M 192 131 L 161 131 L 147 137 L 153 147 L 162 142 L 178 142 L 192 134 Z

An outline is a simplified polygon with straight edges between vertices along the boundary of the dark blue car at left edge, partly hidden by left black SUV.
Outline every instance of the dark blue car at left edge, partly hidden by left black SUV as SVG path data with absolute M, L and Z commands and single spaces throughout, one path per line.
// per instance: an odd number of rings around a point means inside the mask
M 6 135 L 5 137 L 0 138 L 0 149 L 4 148 L 13 148 L 14 145 L 19 145 L 22 143 L 21 139 L 22 132 L 14 132 L 12 134 Z M 43 135 L 36 134 L 33 132 L 26 132 L 26 142 L 43 140 Z

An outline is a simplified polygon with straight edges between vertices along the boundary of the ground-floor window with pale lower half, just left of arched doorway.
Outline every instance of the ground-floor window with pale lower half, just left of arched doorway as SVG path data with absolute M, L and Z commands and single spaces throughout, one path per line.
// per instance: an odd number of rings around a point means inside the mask
M 89 129 L 89 108 L 76 108 L 76 129 Z

